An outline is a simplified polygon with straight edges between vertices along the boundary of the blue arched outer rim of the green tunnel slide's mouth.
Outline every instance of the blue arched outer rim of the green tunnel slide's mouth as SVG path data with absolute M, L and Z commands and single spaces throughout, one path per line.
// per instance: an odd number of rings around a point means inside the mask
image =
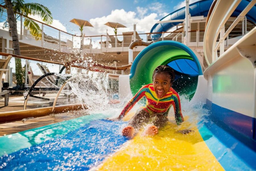
M 178 47 L 182 50 L 184 50 L 185 52 L 187 52 L 194 60 L 194 62 L 197 64 L 197 70 L 198 70 L 198 75 L 203 75 L 202 69 L 201 69 L 201 65 L 199 60 L 197 59 L 197 56 L 195 55 L 195 53 L 189 48 L 187 47 L 185 44 L 182 44 L 180 42 L 176 42 L 173 40 L 162 40 L 159 42 L 155 42 L 153 44 L 150 44 L 149 46 L 147 46 L 146 48 L 144 48 L 135 58 L 132 66 L 131 66 L 131 72 L 129 74 L 130 79 L 133 78 L 133 76 L 135 75 L 136 72 L 136 67 L 139 63 L 139 61 L 141 60 L 141 58 L 151 49 L 159 47 L 159 46 L 164 46 L 164 45 L 168 45 L 168 46 L 175 46 Z

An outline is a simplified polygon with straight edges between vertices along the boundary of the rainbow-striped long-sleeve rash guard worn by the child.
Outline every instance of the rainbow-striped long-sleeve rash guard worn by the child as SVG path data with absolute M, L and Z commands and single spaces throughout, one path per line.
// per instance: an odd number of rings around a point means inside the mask
M 158 98 L 154 90 L 153 84 L 148 84 L 137 92 L 137 94 L 124 107 L 119 118 L 124 117 L 131 108 L 142 98 L 146 96 L 146 106 L 143 108 L 148 113 L 162 113 L 164 116 L 168 115 L 171 106 L 174 107 L 176 123 L 183 122 L 181 113 L 181 105 L 178 93 L 171 87 L 170 90 L 162 98 Z

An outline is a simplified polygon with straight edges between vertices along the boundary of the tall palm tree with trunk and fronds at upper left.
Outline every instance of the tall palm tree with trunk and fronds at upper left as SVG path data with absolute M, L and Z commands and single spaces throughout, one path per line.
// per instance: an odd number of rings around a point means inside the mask
M 23 16 L 38 15 L 46 24 L 51 24 L 53 17 L 47 7 L 38 3 L 24 3 L 24 0 L 4 0 L 5 8 L 7 10 L 7 21 L 11 31 L 13 39 L 14 54 L 20 55 L 20 45 L 17 32 L 17 13 Z M 0 7 L 0 14 L 5 11 L 4 8 Z M 24 26 L 28 28 L 30 34 L 40 40 L 42 38 L 42 30 L 39 25 L 32 19 L 25 18 Z M 15 58 L 15 70 L 16 70 L 16 81 L 17 85 L 22 85 L 22 66 L 21 59 Z

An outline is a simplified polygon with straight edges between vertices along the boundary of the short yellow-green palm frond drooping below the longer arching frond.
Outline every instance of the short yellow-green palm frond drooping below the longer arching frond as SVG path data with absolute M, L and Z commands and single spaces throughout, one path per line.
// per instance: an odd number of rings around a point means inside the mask
M 31 19 L 25 18 L 24 26 L 28 28 L 30 34 L 34 36 L 36 40 L 41 40 L 42 30 L 36 22 Z

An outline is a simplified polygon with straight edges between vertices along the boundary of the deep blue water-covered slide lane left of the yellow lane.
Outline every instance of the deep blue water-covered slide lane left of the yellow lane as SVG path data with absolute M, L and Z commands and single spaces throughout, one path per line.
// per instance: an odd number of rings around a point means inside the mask
M 89 170 L 128 141 L 121 134 L 125 124 L 91 121 L 64 136 L 5 154 L 0 170 Z

